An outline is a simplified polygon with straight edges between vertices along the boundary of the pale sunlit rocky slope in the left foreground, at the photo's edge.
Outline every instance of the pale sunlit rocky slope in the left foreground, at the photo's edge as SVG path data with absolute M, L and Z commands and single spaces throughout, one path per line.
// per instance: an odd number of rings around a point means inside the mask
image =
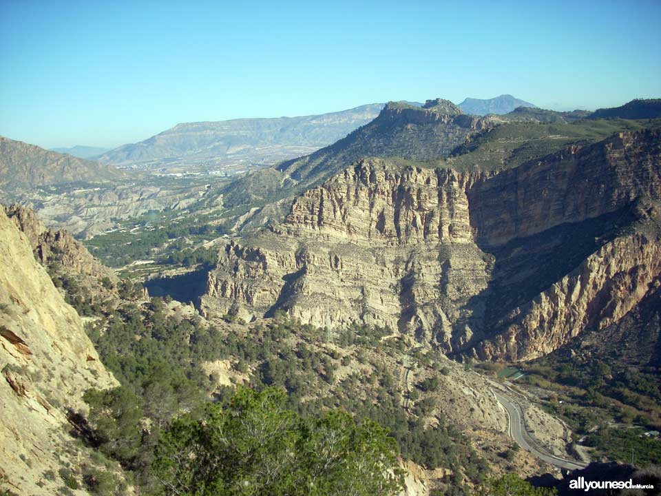
M 81 318 L 35 260 L 28 236 L 3 209 L 0 367 L 0 466 L 12 490 L 54 493 L 57 483 L 43 479 L 43 472 L 56 472 L 58 457 L 70 456 L 64 449 L 67 409 L 85 410 L 85 389 L 118 383 L 99 361 Z

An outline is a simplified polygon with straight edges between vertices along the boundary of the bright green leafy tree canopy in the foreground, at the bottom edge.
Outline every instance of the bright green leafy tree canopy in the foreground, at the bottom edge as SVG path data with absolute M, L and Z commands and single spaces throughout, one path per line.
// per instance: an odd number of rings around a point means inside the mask
M 403 487 L 397 442 L 344 411 L 303 418 L 276 388 L 240 388 L 201 419 L 174 421 L 154 473 L 172 495 L 388 496 Z

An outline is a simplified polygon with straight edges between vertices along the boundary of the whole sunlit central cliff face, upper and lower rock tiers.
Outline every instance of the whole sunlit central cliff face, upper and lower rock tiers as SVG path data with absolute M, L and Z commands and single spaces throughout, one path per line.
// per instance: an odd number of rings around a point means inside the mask
M 285 309 L 328 327 L 388 326 L 450 349 L 468 342 L 481 312 L 468 300 L 485 289 L 490 264 L 471 242 L 466 191 L 476 178 L 360 161 L 251 245 L 231 242 L 202 306 L 245 319 Z

